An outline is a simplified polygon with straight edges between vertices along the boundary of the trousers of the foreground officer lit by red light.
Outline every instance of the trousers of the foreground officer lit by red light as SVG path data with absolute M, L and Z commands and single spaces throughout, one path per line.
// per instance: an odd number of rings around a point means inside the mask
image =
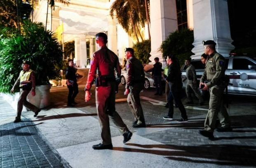
M 115 82 L 108 83 L 108 86 L 96 87 L 96 109 L 101 129 L 101 144 L 110 145 L 111 133 L 109 125 L 109 117 L 118 127 L 119 131 L 124 134 L 128 131 L 120 115 L 115 111 Z

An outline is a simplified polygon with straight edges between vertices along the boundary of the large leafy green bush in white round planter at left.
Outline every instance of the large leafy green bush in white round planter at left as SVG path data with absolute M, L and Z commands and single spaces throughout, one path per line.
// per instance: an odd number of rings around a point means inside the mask
M 48 106 L 49 80 L 60 78 L 63 67 L 63 52 L 56 37 L 42 23 L 30 21 L 24 21 L 21 33 L 0 28 L 0 36 L 0 92 L 10 93 L 22 70 L 22 60 L 28 60 L 37 85 L 36 96 L 28 99 L 40 108 Z

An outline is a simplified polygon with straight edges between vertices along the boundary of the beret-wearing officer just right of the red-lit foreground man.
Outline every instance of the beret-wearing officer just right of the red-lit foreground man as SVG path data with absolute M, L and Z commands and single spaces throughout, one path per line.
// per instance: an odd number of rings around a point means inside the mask
M 145 118 L 140 101 L 140 92 L 143 90 L 145 82 L 145 73 L 141 62 L 135 58 L 132 48 L 125 49 L 125 58 L 127 59 L 126 72 L 127 81 L 124 95 L 127 96 L 127 103 L 134 115 L 132 127 L 146 127 Z

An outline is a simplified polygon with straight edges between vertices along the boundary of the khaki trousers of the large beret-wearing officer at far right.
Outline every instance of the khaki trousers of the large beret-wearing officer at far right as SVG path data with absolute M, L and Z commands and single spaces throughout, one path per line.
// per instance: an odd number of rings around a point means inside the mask
M 227 109 L 224 106 L 223 91 L 224 85 L 214 85 L 209 88 L 210 100 L 207 117 L 204 121 L 204 129 L 213 132 L 216 127 L 217 117 L 221 127 L 230 127 L 230 120 Z

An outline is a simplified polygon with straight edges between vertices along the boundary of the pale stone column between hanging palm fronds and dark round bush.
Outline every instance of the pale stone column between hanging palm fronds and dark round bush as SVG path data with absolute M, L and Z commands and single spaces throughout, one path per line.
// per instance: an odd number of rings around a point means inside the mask
M 151 63 L 155 63 L 155 57 L 163 62 L 159 47 L 177 29 L 176 0 L 150 0 Z

